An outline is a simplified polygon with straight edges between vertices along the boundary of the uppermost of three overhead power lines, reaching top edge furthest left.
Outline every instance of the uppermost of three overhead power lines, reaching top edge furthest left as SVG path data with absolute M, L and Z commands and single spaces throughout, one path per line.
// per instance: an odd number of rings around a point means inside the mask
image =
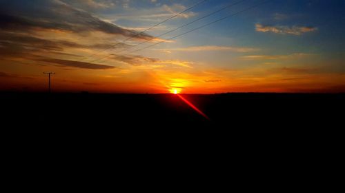
M 179 16 L 180 14 L 183 14 L 184 12 L 187 12 L 188 10 L 193 9 L 197 5 L 200 5 L 201 3 L 204 3 L 206 1 L 208 1 L 208 0 L 199 1 L 195 5 L 192 5 L 189 8 L 187 8 L 186 10 L 183 10 L 182 12 L 179 12 L 179 13 L 173 15 L 173 16 L 170 16 L 168 19 L 165 19 L 164 21 L 161 21 L 161 22 L 159 22 L 159 23 L 157 23 L 155 25 L 152 25 L 151 27 L 148 27 L 146 30 L 144 30 L 142 32 L 139 32 L 139 33 L 137 33 L 137 34 L 135 34 L 133 36 L 130 36 L 130 37 L 126 38 L 124 41 L 121 41 L 119 43 L 115 43 L 114 45 L 110 45 L 110 46 L 106 47 L 105 49 L 101 50 L 101 52 L 98 52 L 97 54 L 92 54 L 90 56 L 87 56 L 86 58 L 91 58 L 92 56 L 99 55 L 99 53 L 105 52 L 108 49 L 112 49 L 112 48 L 116 47 L 117 45 L 119 45 L 121 43 L 125 43 L 126 41 L 129 41 L 130 39 L 135 38 L 135 37 L 139 36 L 140 34 L 143 34 L 144 32 L 147 32 L 148 30 L 151 30 L 153 27 L 157 27 L 158 25 L 161 25 L 162 23 L 165 23 L 166 21 L 169 21 L 170 19 L 174 19 L 175 17 Z M 99 59 L 96 59 L 96 60 L 99 60 Z M 94 60 L 90 61 L 90 63 L 93 63 L 93 62 L 95 62 L 95 61 Z

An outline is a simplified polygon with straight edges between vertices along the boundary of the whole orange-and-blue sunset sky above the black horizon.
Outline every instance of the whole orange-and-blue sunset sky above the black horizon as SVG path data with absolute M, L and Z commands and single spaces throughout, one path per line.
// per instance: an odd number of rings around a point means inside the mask
M 263 1 L 0 0 L 0 91 L 344 92 L 345 1 Z

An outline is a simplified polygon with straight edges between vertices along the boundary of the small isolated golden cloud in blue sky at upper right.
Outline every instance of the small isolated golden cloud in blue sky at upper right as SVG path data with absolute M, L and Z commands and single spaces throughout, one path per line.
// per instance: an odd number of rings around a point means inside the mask
M 255 30 L 257 32 L 273 32 L 275 34 L 292 34 L 296 36 L 300 36 L 306 32 L 314 32 L 317 30 L 317 27 L 306 27 L 306 26 L 286 26 L 286 25 L 262 25 L 262 24 L 255 24 Z

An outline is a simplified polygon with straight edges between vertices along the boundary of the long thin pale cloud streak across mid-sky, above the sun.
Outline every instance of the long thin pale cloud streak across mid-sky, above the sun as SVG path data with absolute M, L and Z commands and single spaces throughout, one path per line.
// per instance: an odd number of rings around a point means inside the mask
M 204 45 L 195 47 L 182 47 L 177 49 L 159 49 L 162 52 L 181 51 L 181 52 L 201 52 L 201 51 L 231 51 L 231 52 L 253 52 L 258 49 L 250 47 L 228 47 L 218 45 Z

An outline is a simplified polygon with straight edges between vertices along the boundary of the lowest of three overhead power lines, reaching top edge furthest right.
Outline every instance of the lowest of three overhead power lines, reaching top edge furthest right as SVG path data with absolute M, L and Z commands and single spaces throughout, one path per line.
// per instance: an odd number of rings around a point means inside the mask
M 211 24 L 213 24 L 213 23 L 217 23 L 217 22 L 219 22 L 219 21 L 223 21 L 224 19 L 228 19 L 228 18 L 231 17 L 231 16 L 235 16 L 235 15 L 240 14 L 240 13 L 242 13 L 242 12 L 246 12 L 246 11 L 251 10 L 251 9 L 253 9 L 253 8 L 257 8 L 257 7 L 259 7 L 259 5 L 263 5 L 264 3 L 267 3 L 268 1 L 271 1 L 271 0 L 262 1 L 261 3 L 257 3 L 256 5 L 250 6 L 249 8 L 246 8 L 246 9 L 241 10 L 241 11 L 239 11 L 239 12 L 235 12 L 234 14 L 230 14 L 230 15 L 228 15 L 228 16 L 224 16 L 224 17 L 222 17 L 221 19 L 217 19 L 217 20 L 215 20 L 215 21 L 206 23 L 205 25 L 201 25 L 200 27 L 194 28 L 193 30 L 189 30 L 188 32 L 184 32 L 184 33 L 179 34 L 179 35 L 177 35 L 177 36 L 173 36 L 173 37 L 171 37 L 171 38 L 168 38 L 168 39 L 166 39 L 166 40 L 160 41 L 160 42 L 158 42 L 158 43 L 155 43 L 155 44 L 152 44 L 152 45 L 148 45 L 148 46 L 143 47 L 143 48 L 141 48 L 141 49 L 136 49 L 135 51 L 130 52 L 130 53 L 128 53 L 128 54 L 132 54 L 132 53 L 135 53 L 135 52 L 139 52 L 139 51 L 141 51 L 141 50 L 143 50 L 143 49 L 146 49 L 146 48 L 148 48 L 148 47 L 152 47 L 152 46 L 155 46 L 155 45 L 159 45 L 160 43 L 164 43 L 164 42 L 166 42 L 166 41 L 170 41 L 170 40 L 172 40 L 172 39 L 174 39 L 174 38 L 177 38 L 177 37 L 179 37 L 179 36 L 184 36 L 185 34 L 188 34 L 188 33 L 193 32 L 193 31 L 195 31 L 195 30 L 199 30 L 199 29 L 201 29 L 201 28 L 203 28 L 203 27 L 206 27 L 206 26 L 208 26 L 208 25 L 211 25 Z

